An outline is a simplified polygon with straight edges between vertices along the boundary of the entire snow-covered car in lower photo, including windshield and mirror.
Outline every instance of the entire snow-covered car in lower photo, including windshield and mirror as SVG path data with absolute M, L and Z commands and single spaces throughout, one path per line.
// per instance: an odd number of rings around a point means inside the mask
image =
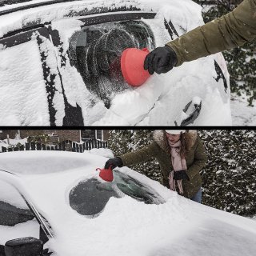
M 106 182 L 96 170 L 106 159 L 0 154 L 1 255 L 254 255 L 254 220 L 192 202 L 128 167 Z

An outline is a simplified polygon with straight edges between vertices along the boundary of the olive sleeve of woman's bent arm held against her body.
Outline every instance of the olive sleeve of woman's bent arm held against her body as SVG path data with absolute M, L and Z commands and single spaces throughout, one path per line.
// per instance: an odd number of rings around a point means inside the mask
M 186 174 L 189 176 L 190 180 L 199 174 L 199 171 L 206 166 L 207 157 L 206 150 L 202 144 L 201 138 L 197 138 L 196 148 L 194 150 L 194 162 L 186 170 Z

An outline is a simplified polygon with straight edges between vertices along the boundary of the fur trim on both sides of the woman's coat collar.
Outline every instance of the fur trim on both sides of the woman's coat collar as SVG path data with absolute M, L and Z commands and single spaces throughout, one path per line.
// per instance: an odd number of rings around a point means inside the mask
M 188 150 L 190 150 L 194 146 L 197 138 L 198 138 L 198 132 L 196 130 L 189 130 L 185 134 L 185 140 L 186 140 Z M 169 152 L 169 145 L 167 142 L 165 130 L 155 130 L 154 141 L 158 144 L 158 146 L 162 148 L 162 150 Z

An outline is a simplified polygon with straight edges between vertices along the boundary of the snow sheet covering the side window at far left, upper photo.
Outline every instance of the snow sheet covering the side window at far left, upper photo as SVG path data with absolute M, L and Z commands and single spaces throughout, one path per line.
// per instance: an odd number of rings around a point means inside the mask
M 0 126 L 50 124 L 36 41 L 0 50 L 0 88 Z

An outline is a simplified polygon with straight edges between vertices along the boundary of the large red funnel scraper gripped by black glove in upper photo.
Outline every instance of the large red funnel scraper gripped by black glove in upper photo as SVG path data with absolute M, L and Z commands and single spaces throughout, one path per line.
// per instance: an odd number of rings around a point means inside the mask
M 149 53 L 146 48 L 127 48 L 122 52 L 122 76 L 130 86 L 141 86 L 150 77 L 150 73 L 144 70 L 144 60 Z

